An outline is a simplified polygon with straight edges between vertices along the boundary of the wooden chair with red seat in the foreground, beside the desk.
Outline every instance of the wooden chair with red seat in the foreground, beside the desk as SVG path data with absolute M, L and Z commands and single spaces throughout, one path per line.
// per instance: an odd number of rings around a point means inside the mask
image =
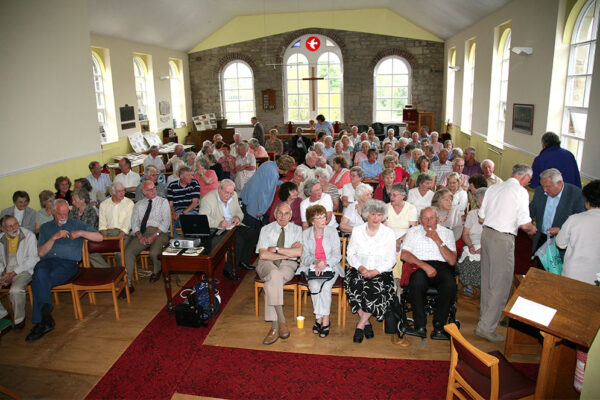
M 461 335 L 456 324 L 444 329 L 451 336 L 446 400 L 466 400 L 465 393 L 475 400 L 533 399 L 535 381 L 517 371 L 502 353 L 479 350 Z

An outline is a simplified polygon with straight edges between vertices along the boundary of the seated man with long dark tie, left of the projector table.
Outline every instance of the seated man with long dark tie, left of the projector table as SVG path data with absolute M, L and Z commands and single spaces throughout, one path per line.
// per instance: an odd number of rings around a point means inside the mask
M 135 237 L 132 237 L 125 247 L 125 268 L 127 269 L 129 293 L 133 293 L 135 290 L 132 277 L 135 259 L 138 254 L 142 250 L 150 249 L 150 259 L 154 267 L 150 276 L 150 283 L 156 282 L 161 274 L 158 256 L 162 253 L 163 247 L 169 242 L 169 228 L 171 225 L 169 202 L 167 199 L 158 196 L 152 181 L 142 183 L 142 193 L 144 199 L 135 204 L 131 216 L 131 232 L 132 236 Z M 125 291 L 121 291 L 119 294 L 121 298 L 125 298 L 123 293 Z

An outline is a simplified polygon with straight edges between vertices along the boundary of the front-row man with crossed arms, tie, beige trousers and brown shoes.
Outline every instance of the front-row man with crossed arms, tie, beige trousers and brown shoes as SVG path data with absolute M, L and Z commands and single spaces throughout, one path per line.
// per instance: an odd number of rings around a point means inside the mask
M 283 314 L 283 285 L 294 277 L 297 258 L 302 255 L 302 228 L 291 224 L 291 219 L 290 206 L 280 203 L 275 209 L 275 221 L 261 229 L 256 245 L 256 273 L 265 285 L 265 321 L 272 324 L 263 340 L 266 345 L 290 336 Z

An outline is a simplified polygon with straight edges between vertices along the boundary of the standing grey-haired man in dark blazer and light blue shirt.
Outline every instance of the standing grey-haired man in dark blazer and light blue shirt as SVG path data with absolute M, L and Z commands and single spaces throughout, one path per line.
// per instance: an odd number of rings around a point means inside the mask
M 567 218 L 584 212 L 585 201 L 581 189 L 563 182 L 560 171 L 549 168 L 540 174 L 540 186 L 535 189 L 533 200 L 529 204 L 531 218 L 536 219 L 538 229 L 533 238 L 533 252 L 542 246 L 547 235 L 556 236 Z M 564 251 L 560 252 L 564 257 Z M 538 267 L 543 268 L 536 257 Z

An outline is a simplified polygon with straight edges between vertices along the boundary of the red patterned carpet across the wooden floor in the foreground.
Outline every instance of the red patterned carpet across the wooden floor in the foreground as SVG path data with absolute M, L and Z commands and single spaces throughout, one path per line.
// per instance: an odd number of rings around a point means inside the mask
M 237 284 L 220 276 L 226 305 Z M 192 278 L 187 285 L 191 285 Z M 161 310 L 88 399 L 443 399 L 447 361 L 340 357 L 203 345 L 208 328 L 178 327 Z M 515 364 L 535 379 L 538 366 Z

